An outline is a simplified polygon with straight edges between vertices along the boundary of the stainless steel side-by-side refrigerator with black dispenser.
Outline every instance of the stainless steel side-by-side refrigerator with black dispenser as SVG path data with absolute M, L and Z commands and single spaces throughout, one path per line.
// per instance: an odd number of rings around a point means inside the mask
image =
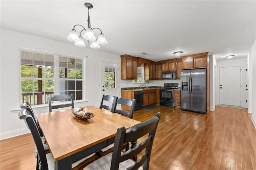
M 182 110 L 206 113 L 206 68 L 182 70 L 180 76 L 180 108 Z

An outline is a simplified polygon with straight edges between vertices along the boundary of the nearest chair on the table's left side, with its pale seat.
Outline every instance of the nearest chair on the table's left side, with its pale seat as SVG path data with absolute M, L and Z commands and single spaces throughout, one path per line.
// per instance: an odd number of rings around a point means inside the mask
M 23 109 L 21 112 L 27 112 L 27 110 Z M 52 157 L 52 153 L 46 154 L 44 152 L 44 147 L 40 137 L 40 133 L 38 131 L 36 122 L 34 121 L 33 117 L 31 115 L 28 115 L 28 113 L 21 113 L 21 115 L 26 115 L 26 117 L 24 118 L 25 123 L 27 127 L 29 127 L 32 133 L 34 142 L 36 144 L 36 148 L 37 148 L 36 149 L 36 154 L 37 154 L 36 170 L 54 169 L 54 159 Z M 87 156 L 86 158 L 83 158 L 73 163 L 72 170 L 78 170 L 80 169 L 80 167 L 90 164 L 92 161 L 96 159 L 98 159 L 98 156 L 96 154 L 91 154 L 90 156 Z

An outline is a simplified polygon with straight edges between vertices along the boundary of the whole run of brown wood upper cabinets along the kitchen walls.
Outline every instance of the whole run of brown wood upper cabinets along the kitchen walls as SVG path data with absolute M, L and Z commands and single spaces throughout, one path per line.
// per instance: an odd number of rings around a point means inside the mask
M 145 80 L 162 80 L 164 71 L 176 71 L 176 79 L 180 79 L 182 69 L 208 68 L 210 62 L 210 53 L 208 52 L 158 62 L 130 55 L 121 55 L 120 57 L 122 80 L 137 79 L 137 67 L 142 64 L 144 64 Z

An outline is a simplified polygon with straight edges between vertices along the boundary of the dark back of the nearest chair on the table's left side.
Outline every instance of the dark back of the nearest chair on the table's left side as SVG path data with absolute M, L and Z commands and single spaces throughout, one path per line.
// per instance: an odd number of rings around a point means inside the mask
M 38 131 L 36 122 L 34 121 L 33 117 L 30 115 L 30 113 L 26 109 L 23 109 L 22 111 L 20 111 L 20 115 L 22 117 L 20 117 L 20 119 L 24 119 L 25 123 L 27 125 L 27 127 L 30 129 L 31 133 L 32 133 L 32 137 L 34 139 L 34 142 L 36 143 L 36 149 L 37 149 L 37 163 L 36 163 L 36 169 L 39 169 L 39 163 L 41 166 L 42 170 L 48 170 L 48 164 L 47 164 L 47 159 L 46 159 L 46 154 L 45 154 L 45 150 L 44 150 L 44 145 L 42 143 L 42 139 L 40 136 L 40 133 Z M 24 117 L 24 115 L 26 115 L 26 117 Z

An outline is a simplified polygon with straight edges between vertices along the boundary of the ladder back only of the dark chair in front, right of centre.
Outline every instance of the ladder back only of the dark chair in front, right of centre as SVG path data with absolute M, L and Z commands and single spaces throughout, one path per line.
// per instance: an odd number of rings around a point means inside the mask
M 149 161 L 150 161 L 150 154 L 151 149 L 156 133 L 156 128 L 160 119 L 160 113 L 156 113 L 154 117 L 151 119 L 139 123 L 130 127 L 128 130 L 125 127 L 120 127 L 117 129 L 115 142 L 114 142 L 114 150 L 112 153 L 112 160 L 111 160 L 111 168 L 118 170 L 120 162 L 125 160 L 135 158 L 142 150 L 145 150 L 145 153 L 141 156 L 141 158 L 136 161 L 132 166 L 127 168 L 127 170 L 138 169 L 140 166 L 143 165 L 143 170 L 149 169 Z M 132 149 L 122 152 L 123 145 L 126 143 L 136 143 L 137 139 L 147 135 L 148 137 L 142 141 L 138 146 L 132 147 Z M 144 138 L 143 138 L 144 139 Z

